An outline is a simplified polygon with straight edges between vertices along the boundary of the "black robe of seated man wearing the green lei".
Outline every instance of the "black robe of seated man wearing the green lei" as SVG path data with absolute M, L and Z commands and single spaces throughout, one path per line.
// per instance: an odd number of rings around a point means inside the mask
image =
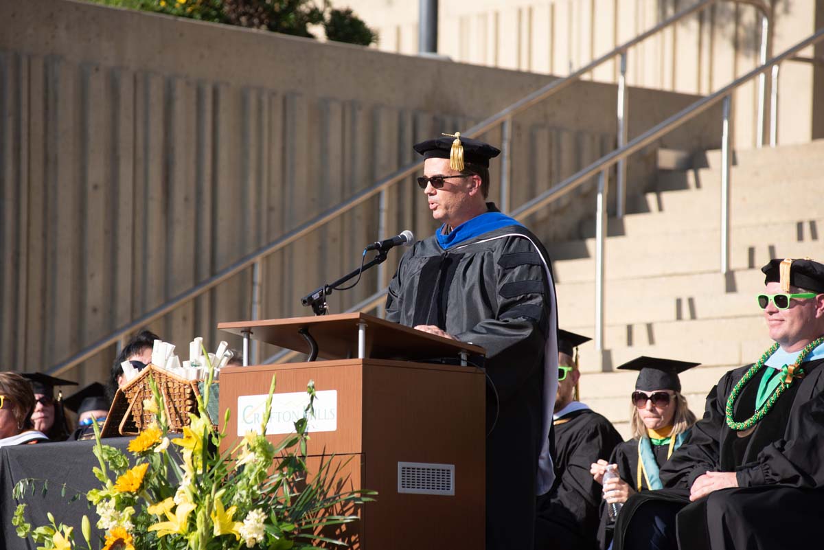
M 794 380 L 754 430 L 734 431 L 724 408 L 744 366 L 723 375 L 707 396 L 704 417 L 662 468 L 667 489 L 630 498 L 616 533 L 637 529 L 636 510 L 680 506 L 677 538 L 681 548 L 806 547 L 824 520 L 824 360 L 803 363 L 807 375 Z M 767 367 L 769 368 L 769 367 Z M 761 374 L 742 389 L 733 408 L 740 422 L 755 411 Z M 739 488 L 712 492 L 690 503 L 689 491 L 705 472 L 736 472 Z M 815 503 L 815 506 L 812 506 Z M 626 514 L 625 514 L 626 512 Z M 620 550 L 616 534 L 616 550 Z M 622 540 L 620 541 L 623 542 Z

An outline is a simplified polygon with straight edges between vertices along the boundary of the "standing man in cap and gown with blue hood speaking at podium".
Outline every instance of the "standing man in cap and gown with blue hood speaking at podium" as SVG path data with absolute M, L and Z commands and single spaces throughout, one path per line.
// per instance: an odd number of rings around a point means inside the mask
M 442 225 L 400 260 L 386 319 L 485 348 L 486 548 L 532 548 L 536 495 L 555 478 L 555 284 L 537 237 L 485 201 L 500 151 L 453 137 L 414 146 L 424 156 L 418 184 Z

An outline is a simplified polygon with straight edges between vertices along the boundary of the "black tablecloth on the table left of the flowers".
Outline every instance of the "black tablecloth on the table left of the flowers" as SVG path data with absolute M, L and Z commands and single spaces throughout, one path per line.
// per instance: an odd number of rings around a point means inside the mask
M 105 445 L 116 447 L 125 452 L 129 437 L 103 440 Z M 83 543 L 80 522 L 84 514 L 89 516 L 92 527 L 92 545 L 95 546 L 99 532 L 96 529 L 97 515 L 94 507 L 86 500 L 89 489 L 101 487 L 91 468 L 97 459 L 91 452 L 94 440 L 65 441 L 63 443 L 38 443 L 36 445 L 16 445 L 0 447 L 0 529 L 2 529 L 2 548 L 8 550 L 35 550 L 30 539 L 18 538 L 12 525 L 12 517 L 17 505 L 26 503 L 26 521 L 32 529 L 49 524 L 47 512 L 54 515 L 58 523 L 74 526 L 74 539 Z M 128 453 L 127 453 L 128 454 Z M 30 492 L 21 501 L 12 497 L 12 490 L 17 482 L 25 478 L 35 478 L 35 494 Z M 48 482 L 48 491 L 43 495 L 43 481 Z M 66 494 L 61 496 L 63 483 Z M 69 502 L 73 495 L 81 493 L 76 501 Z M 83 543 L 85 544 L 85 543 Z

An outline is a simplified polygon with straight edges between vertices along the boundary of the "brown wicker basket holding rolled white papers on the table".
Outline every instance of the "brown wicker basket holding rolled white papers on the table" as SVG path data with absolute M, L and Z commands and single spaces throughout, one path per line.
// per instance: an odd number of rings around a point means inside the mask
M 165 398 L 169 431 L 180 433 L 185 426 L 189 426 L 189 413 L 198 412 L 197 381 L 185 380 L 158 366 L 149 365 L 129 384 L 117 390 L 101 436 L 133 436 L 155 422 L 155 414 L 143 410 L 143 401 L 152 399 L 150 375 Z

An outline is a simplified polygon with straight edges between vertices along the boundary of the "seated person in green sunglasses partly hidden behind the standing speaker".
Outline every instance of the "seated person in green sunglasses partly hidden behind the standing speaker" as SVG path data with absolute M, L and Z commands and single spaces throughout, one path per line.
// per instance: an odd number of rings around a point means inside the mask
M 538 498 L 535 548 L 595 550 L 601 486 L 590 464 L 610 456 L 623 439 L 610 421 L 579 400 L 578 346 L 591 338 L 558 331 L 558 392 L 555 396 L 555 482 Z

